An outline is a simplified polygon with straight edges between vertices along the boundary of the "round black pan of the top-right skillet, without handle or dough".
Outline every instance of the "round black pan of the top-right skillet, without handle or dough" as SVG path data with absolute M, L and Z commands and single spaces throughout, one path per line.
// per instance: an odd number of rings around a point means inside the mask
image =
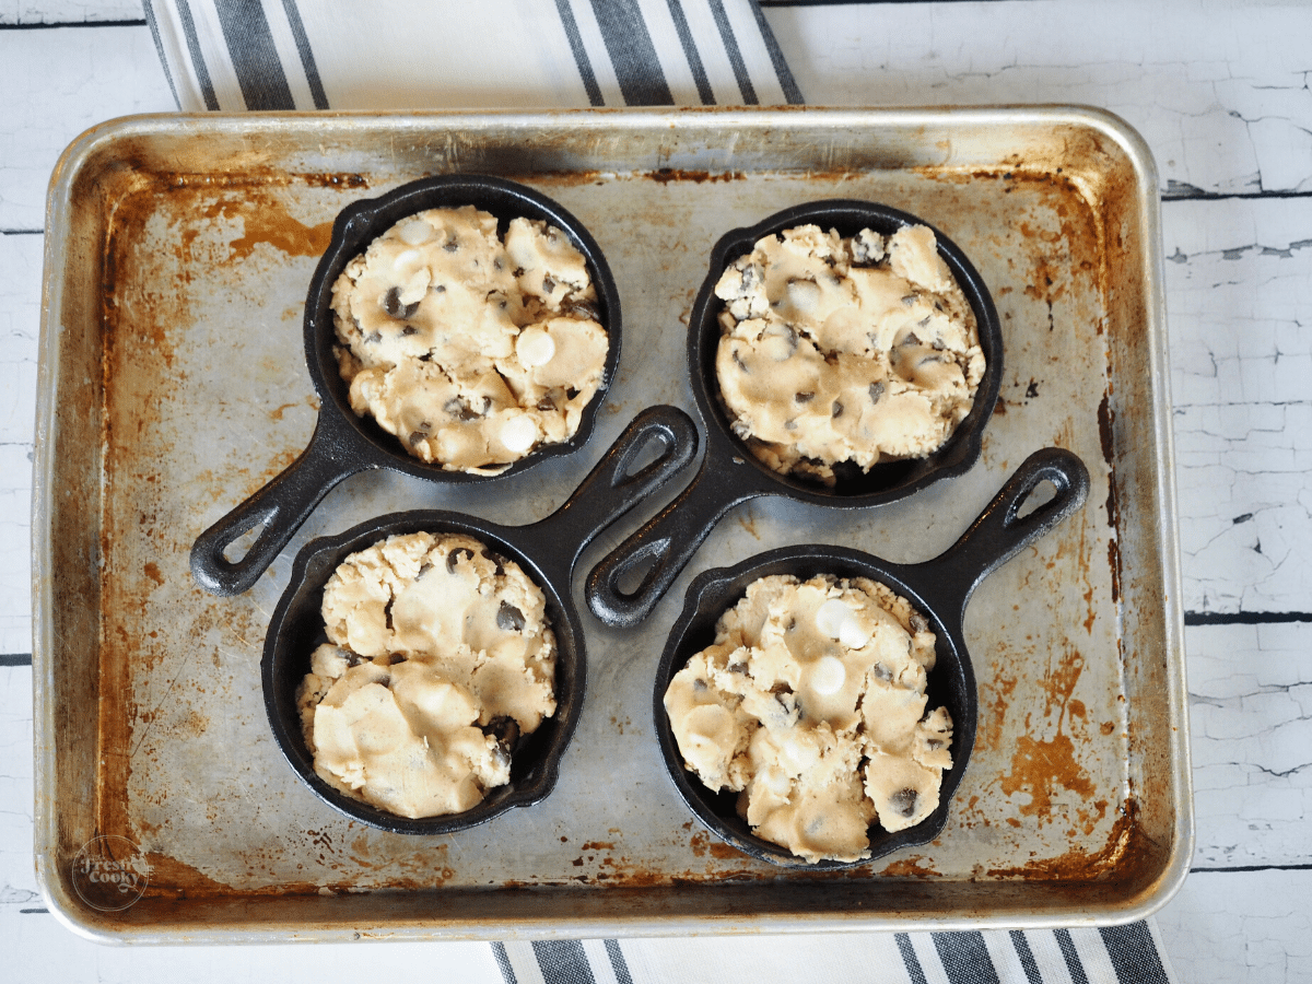
M 926 226 L 933 230 L 939 257 L 947 264 L 975 312 L 979 344 L 985 359 L 984 377 L 976 390 L 971 412 L 956 425 L 942 447 L 925 458 L 880 462 L 866 472 L 854 464 L 838 464 L 834 468 L 836 482 L 832 488 L 795 475 L 781 475 L 757 459 L 748 445 L 733 433 L 715 375 L 715 353 L 720 338 L 718 318 L 723 310 L 723 302 L 715 297 L 716 281 L 729 264 L 750 253 L 760 239 L 806 224 L 816 224 L 827 232 L 830 228 L 837 230 L 842 237 L 854 236 L 863 228 L 874 230 L 883 236 L 907 226 Z M 997 307 L 984 278 L 960 247 L 917 215 L 879 202 L 854 198 L 796 205 L 754 226 L 726 234 L 711 252 L 710 272 L 693 304 L 687 337 L 693 391 L 707 426 L 715 428 L 726 441 L 731 442 L 749 467 L 785 485 L 789 495 L 824 505 L 892 502 L 934 482 L 968 471 L 979 458 L 984 426 L 997 404 L 1002 382 L 1002 328 Z

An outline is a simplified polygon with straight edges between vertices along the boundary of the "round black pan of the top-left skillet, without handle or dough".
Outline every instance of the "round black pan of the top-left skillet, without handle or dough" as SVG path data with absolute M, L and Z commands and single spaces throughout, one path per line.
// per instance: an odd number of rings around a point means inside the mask
M 445 471 L 440 464 L 428 464 L 411 455 L 400 441 L 378 426 L 373 417 L 356 416 L 350 408 L 350 387 L 341 378 L 335 353 L 332 287 L 346 265 L 401 219 L 428 209 L 458 209 L 466 205 L 495 215 L 497 234 L 502 237 L 510 220 L 516 218 L 541 219 L 560 230 L 584 257 L 597 294 L 598 320 L 609 338 L 601 384 L 584 408 L 573 437 L 560 443 L 541 445 L 497 475 Z M 353 202 L 337 215 L 328 249 L 310 281 L 303 331 L 310 377 L 324 403 L 324 409 L 320 412 L 335 412 L 358 437 L 380 449 L 388 457 L 387 467 L 420 478 L 440 478 L 443 482 L 487 482 L 516 475 L 547 458 L 569 454 L 586 443 L 597 411 L 619 365 L 619 290 L 597 240 L 559 202 L 527 185 L 492 174 L 438 174 L 399 185 L 378 198 Z

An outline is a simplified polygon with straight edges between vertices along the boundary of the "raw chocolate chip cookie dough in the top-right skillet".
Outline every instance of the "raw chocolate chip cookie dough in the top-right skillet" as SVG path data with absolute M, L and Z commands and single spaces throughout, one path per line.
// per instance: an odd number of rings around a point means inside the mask
M 933 230 L 766 236 L 724 270 L 715 371 L 733 430 L 770 468 L 834 483 L 834 466 L 938 450 L 984 375 L 975 312 Z

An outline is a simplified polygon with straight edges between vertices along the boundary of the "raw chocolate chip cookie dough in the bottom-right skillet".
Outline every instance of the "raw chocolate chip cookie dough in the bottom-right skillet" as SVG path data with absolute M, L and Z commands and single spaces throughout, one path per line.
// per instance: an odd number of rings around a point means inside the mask
M 926 712 L 934 634 L 865 577 L 754 581 L 665 691 L 689 770 L 739 792 L 753 832 L 810 862 L 869 857 L 867 828 L 938 807 L 953 720 Z

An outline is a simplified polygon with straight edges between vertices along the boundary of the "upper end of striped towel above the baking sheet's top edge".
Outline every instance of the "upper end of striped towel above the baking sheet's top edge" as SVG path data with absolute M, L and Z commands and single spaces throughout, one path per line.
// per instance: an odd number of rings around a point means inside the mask
M 802 102 L 750 0 L 146 0 L 178 106 Z

